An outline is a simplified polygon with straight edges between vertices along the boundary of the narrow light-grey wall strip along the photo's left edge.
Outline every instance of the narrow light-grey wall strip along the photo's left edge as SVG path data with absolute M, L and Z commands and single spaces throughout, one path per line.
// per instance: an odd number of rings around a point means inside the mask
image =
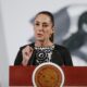
M 0 87 L 9 85 L 9 55 L 5 42 L 5 30 L 2 15 L 2 4 L 0 0 Z

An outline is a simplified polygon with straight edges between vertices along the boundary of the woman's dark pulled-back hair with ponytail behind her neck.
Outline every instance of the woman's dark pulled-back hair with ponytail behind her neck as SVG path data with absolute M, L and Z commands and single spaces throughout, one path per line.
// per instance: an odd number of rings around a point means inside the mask
M 39 13 L 36 15 L 36 17 L 37 17 L 39 14 L 46 14 L 46 15 L 48 15 L 48 16 L 50 17 L 50 20 L 51 20 L 52 27 L 54 26 L 54 18 L 53 18 L 53 15 L 52 15 L 51 12 L 41 11 L 41 12 L 39 12 Z M 53 34 L 51 35 L 50 40 L 53 42 Z

